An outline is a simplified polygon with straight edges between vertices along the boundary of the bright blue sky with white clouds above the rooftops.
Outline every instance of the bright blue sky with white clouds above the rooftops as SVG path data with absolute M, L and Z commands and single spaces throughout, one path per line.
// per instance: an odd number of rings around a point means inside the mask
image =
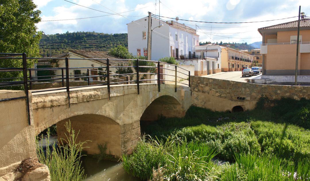
M 86 6 L 78 6 L 70 2 Z M 126 23 L 143 18 L 148 12 L 170 18 L 207 22 L 252 22 L 298 16 L 310 16 L 310 0 L 33 0 L 42 11 L 38 31 L 46 34 L 69 32 L 127 33 Z M 135 11 L 131 11 L 135 10 Z M 104 11 L 104 12 L 100 12 Z M 130 12 L 126 12 L 130 11 Z M 108 13 L 120 15 L 110 15 Z M 103 16 L 107 15 L 107 16 Z M 88 19 L 76 19 L 103 16 Z M 171 20 L 163 18 L 165 20 Z M 197 23 L 179 20 L 197 28 L 201 42 L 237 42 L 248 44 L 261 41 L 257 29 L 298 20 L 298 17 L 260 23 Z M 197 27 L 195 26 L 197 24 Z M 210 35 L 211 34 L 211 35 Z M 223 37 L 224 36 L 224 37 Z M 228 38 L 229 37 L 229 38 Z

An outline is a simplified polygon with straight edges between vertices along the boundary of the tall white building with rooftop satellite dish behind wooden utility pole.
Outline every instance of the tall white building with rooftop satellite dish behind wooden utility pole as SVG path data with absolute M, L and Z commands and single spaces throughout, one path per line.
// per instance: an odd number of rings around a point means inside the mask
M 157 27 L 163 24 L 162 27 Z M 148 17 L 127 24 L 128 51 L 135 56 L 147 56 Z M 192 57 L 199 45 L 196 30 L 175 21 L 160 21 L 152 18 L 151 60 L 163 57 Z

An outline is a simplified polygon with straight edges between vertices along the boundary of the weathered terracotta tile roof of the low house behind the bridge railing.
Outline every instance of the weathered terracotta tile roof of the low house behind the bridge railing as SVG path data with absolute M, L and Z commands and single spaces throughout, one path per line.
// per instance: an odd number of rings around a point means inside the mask
M 86 58 L 94 58 L 94 59 L 119 59 L 118 57 L 114 57 L 112 55 L 108 55 L 108 53 L 102 51 L 95 50 L 69 50 L 69 52 L 76 53 Z M 106 64 L 106 60 L 95 60 L 101 63 Z M 110 64 L 128 64 L 127 60 L 110 60 Z

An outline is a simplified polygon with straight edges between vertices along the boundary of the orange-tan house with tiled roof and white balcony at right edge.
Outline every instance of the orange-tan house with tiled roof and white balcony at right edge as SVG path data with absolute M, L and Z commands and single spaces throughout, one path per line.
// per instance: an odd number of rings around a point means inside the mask
M 259 28 L 263 76 L 286 77 L 294 82 L 298 20 Z M 300 20 L 298 75 L 310 75 L 310 19 Z M 290 77 L 290 80 L 288 78 Z M 292 81 L 293 80 L 293 81 Z M 278 80 L 279 81 L 279 80 Z

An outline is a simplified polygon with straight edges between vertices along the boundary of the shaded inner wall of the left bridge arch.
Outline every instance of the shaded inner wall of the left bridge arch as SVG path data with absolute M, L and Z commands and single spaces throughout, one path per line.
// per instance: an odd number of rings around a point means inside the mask
M 79 132 L 77 142 L 87 141 L 84 151 L 87 154 L 98 154 L 98 145 L 106 146 L 106 154 L 118 157 L 121 155 L 121 127 L 120 125 L 106 116 L 98 114 L 81 114 L 66 118 L 56 123 L 57 136 L 66 139 L 68 132 L 65 124 L 70 121 L 71 128 L 76 133 Z M 66 134 L 66 135 L 65 135 Z

